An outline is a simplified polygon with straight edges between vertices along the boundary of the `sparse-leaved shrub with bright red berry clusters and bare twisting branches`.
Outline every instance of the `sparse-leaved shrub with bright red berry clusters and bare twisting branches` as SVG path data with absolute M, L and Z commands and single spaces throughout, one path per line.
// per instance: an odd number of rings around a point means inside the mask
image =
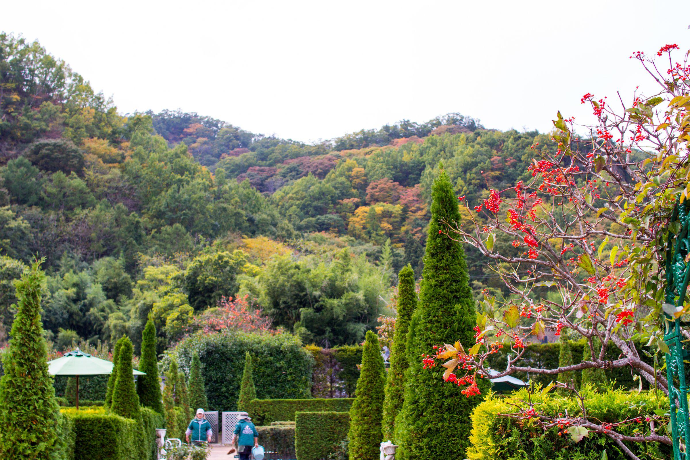
M 669 232 L 680 230 L 673 209 L 690 198 L 690 66 L 688 53 L 678 62 L 674 50 L 675 44 L 631 56 L 658 83 L 655 92 L 638 87 L 627 98 L 584 94 L 581 102 L 593 110 L 591 126 L 558 112 L 550 142 L 530 146 L 526 179 L 491 190 L 481 203 L 459 197 L 469 218 L 442 222 L 439 231 L 493 260 L 508 294 L 497 298 L 485 291 L 475 343 L 466 344 L 467 351 L 460 343 L 438 343 L 424 357 L 426 368 L 442 359 L 444 379 L 462 383 L 469 396 L 475 377 L 487 373 L 486 357 L 509 347 L 507 366 L 496 377 L 520 371 L 558 379 L 565 372 L 629 366 L 651 389 L 668 394 L 662 366 L 644 362 L 640 353 L 668 352 L 664 312 L 680 317 L 690 308 L 687 301 L 678 301 L 680 308 L 667 303 L 672 295 L 664 298 Z M 521 361 L 525 347 L 547 331 L 584 337 L 591 359 L 552 369 Z M 690 339 L 687 328 L 682 334 Z M 604 360 L 609 347 L 620 350 L 618 359 Z M 553 385 L 577 394 L 570 382 Z M 529 401 L 520 404 L 521 417 L 529 414 L 544 427 L 557 423 Z M 563 414 L 558 423 L 573 428 L 573 440 L 606 434 L 633 458 L 627 441 L 671 443 L 663 411 L 650 413 L 634 436 L 622 434 L 620 423 L 638 421 L 603 424 Z

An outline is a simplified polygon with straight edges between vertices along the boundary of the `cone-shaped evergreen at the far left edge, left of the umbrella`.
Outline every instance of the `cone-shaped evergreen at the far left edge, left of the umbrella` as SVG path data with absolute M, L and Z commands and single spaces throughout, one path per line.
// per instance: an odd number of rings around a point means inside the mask
M 43 272 L 34 262 L 17 282 L 17 314 L 0 379 L 0 459 L 55 457 L 59 408 L 41 323 Z

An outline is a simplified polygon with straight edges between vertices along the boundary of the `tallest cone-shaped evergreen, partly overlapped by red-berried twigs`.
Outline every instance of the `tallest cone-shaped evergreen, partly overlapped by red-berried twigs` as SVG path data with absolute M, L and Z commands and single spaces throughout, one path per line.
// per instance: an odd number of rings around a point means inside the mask
M 475 343 L 476 313 L 462 245 L 439 230 L 444 223 L 460 222 L 457 198 L 448 174 L 442 171 L 431 189 L 422 287 L 408 333 L 409 368 L 405 374 L 405 401 L 396 421 L 397 460 L 464 458 L 469 446 L 470 415 L 482 397 L 467 398 L 460 388 L 442 380 L 438 368 L 422 369 L 422 353 L 434 345 Z M 482 394 L 489 382 L 477 379 Z M 398 455 L 400 452 L 400 455 Z

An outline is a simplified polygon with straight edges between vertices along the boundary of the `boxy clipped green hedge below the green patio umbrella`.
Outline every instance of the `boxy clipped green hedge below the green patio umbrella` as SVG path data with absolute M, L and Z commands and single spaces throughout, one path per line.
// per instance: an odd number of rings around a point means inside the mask
M 107 413 L 93 407 L 60 410 L 63 458 L 66 460 L 152 460 L 156 458 L 156 428 L 163 426 L 163 417 L 144 408 L 144 426 L 132 419 Z M 142 439 L 142 430 L 144 438 Z M 141 456 L 142 448 L 144 457 Z

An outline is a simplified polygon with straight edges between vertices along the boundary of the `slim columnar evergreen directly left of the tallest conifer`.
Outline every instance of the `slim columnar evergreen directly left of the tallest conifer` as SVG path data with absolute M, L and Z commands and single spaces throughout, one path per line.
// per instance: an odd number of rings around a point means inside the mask
M 405 396 L 405 370 L 409 364 L 406 354 L 407 331 L 410 319 L 417 308 L 417 292 L 415 292 L 415 272 L 408 263 L 398 273 L 397 282 L 397 317 L 395 318 L 395 333 L 393 334 L 393 348 L 391 349 L 391 367 L 388 368 L 386 381 L 386 399 L 384 401 L 384 441 L 393 439 L 395 417 L 402 408 Z

